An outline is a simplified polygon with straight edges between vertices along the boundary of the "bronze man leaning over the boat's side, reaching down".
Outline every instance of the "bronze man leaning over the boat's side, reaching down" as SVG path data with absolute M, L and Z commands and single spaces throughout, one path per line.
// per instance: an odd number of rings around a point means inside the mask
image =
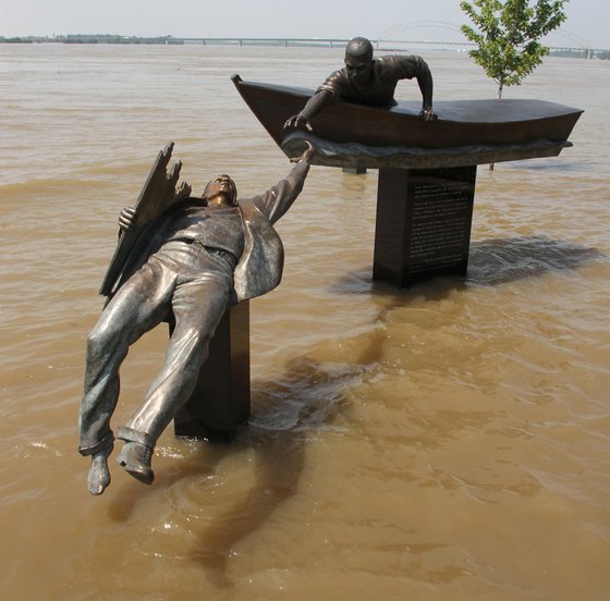
M 345 100 L 369 107 L 393 107 L 394 90 L 400 79 L 415 77 L 422 93 L 420 116 L 435 119 L 432 112 L 432 75 L 418 56 L 388 54 L 375 59 L 373 45 L 364 37 L 350 40 L 345 48 L 345 66 L 331 73 L 303 110 L 286 120 L 284 127 L 312 131 L 310 120 L 333 100 Z

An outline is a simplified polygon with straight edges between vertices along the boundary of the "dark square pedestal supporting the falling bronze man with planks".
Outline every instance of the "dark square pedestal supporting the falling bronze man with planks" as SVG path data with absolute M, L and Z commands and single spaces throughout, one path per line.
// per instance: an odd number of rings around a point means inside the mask
M 174 418 L 174 434 L 229 441 L 249 417 L 249 302 L 229 309 L 210 341 L 197 387 Z

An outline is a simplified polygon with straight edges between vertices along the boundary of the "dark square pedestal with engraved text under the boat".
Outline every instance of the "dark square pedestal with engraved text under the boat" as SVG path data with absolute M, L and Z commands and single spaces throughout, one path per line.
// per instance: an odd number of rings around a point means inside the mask
M 380 169 L 373 279 L 466 275 L 475 183 L 476 165 Z

